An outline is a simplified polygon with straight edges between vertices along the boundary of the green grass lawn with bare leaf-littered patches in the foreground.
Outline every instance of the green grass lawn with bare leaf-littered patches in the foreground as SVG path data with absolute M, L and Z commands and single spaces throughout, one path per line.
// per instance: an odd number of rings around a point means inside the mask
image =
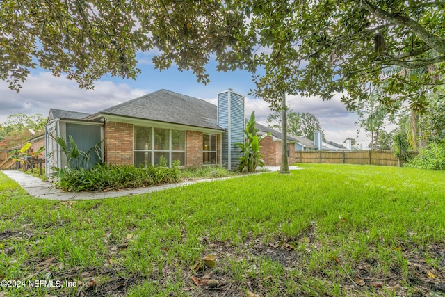
M 79 202 L 32 199 L 0 174 L 0 278 L 82 281 L 8 296 L 443 296 L 445 172 L 302 167 Z M 197 277 L 216 290 L 191 281 L 205 255 L 217 265 Z

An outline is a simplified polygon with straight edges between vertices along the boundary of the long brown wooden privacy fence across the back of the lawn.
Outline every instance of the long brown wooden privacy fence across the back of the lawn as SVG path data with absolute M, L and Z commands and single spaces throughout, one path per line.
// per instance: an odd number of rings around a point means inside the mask
M 392 151 L 360 150 L 341 152 L 295 152 L 297 163 L 326 163 L 326 164 L 362 164 L 382 166 L 402 166 L 404 160 L 399 159 Z

